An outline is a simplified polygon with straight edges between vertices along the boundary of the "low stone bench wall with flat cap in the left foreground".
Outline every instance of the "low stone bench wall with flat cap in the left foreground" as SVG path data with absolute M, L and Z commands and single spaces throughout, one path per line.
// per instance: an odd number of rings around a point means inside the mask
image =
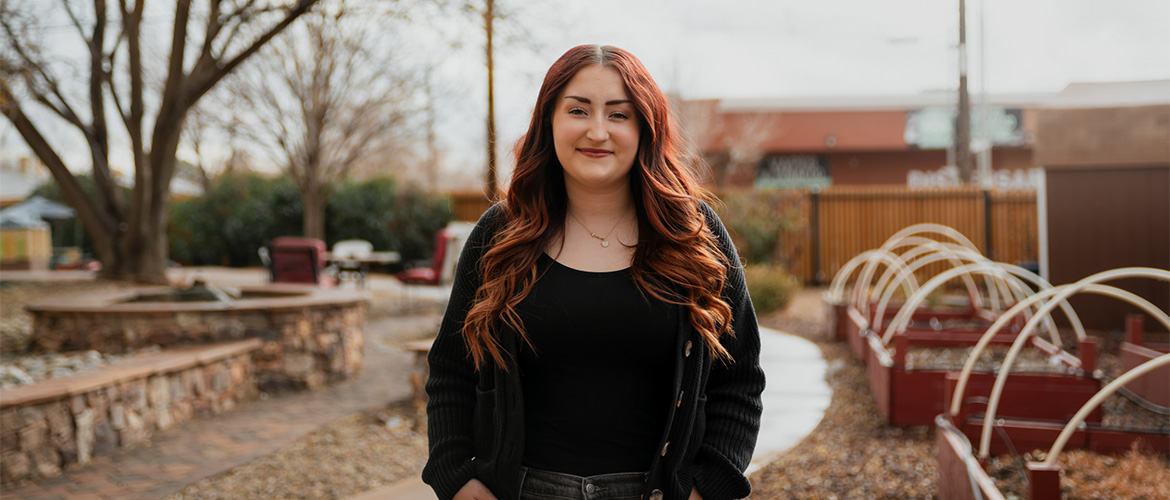
M 133 357 L 0 395 L 0 481 L 53 477 L 257 393 L 257 340 Z

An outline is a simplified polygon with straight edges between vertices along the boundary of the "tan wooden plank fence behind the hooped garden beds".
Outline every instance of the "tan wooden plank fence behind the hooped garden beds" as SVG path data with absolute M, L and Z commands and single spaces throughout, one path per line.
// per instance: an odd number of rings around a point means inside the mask
M 789 191 L 772 203 L 777 217 L 792 222 L 780 237 L 777 255 L 806 283 L 831 281 L 854 255 L 921 222 L 958 231 L 994 261 L 1038 260 L 1035 193 L 1031 191 L 838 186 Z M 469 221 L 489 206 L 479 192 L 454 193 L 452 204 L 456 220 Z

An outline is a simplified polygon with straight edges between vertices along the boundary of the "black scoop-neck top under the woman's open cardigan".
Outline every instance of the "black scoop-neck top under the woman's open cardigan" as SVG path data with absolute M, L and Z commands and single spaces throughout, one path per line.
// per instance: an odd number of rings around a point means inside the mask
M 542 255 L 517 313 L 524 465 L 576 475 L 649 470 L 674 402 L 674 308 L 629 269 L 593 273 Z

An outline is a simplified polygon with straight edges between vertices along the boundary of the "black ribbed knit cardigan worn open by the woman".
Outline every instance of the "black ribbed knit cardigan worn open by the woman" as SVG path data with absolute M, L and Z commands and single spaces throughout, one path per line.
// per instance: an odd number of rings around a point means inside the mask
M 723 299 L 731 306 L 735 336 L 723 336 L 721 343 L 735 362 L 711 362 L 689 315 L 676 315 L 674 391 L 679 400 L 667 418 L 660 454 L 648 471 L 642 494 L 647 500 L 684 500 L 691 486 L 704 500 L 739 499 L 751 492 L 743 471 L 756 447 L 763 410 L 759 328 L 735 246 L 715 211 L 702 204 L 702 212 L 720 249 L 732 262 Z M 427 356 L 431 454 L 422 480 L 443 500 L 473 478 L 501 500 L 519 498 L 524 402 L 518 370 L 498 369 L 489 357 L 488 365 L 477 372 L 462 336 L 463 320 L 483 281 L 483 254 L 503 226 L 504 213 L 501 205 L 493 206 L 472 231 L 455 268 L 447 313 Z M 515 331 L 504 329 L 498 338 L 508 352 L 518 352 Z

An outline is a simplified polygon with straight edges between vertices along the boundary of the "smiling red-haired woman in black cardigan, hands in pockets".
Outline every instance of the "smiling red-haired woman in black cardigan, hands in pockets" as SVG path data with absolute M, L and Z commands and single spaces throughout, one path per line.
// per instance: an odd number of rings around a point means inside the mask
M 764 374 L 743 270 L 629 53 L 549 69 L 426 384 L 440 499 L 744 498 Z

